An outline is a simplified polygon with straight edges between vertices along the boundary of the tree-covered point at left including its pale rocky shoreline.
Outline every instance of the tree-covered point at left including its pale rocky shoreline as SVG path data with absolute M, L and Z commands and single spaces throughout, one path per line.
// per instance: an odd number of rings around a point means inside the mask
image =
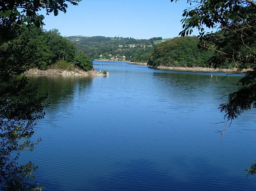
M 28 42 L 23 56 L 27 66 L 25 75 L 58 76 L 107 76 L 107 71 L 93 68 L 93 58 L 78 51 L 74 42 L 60 35 L 57 29 L 50 31 L 36 26 L 22 26 L 18 40 Z

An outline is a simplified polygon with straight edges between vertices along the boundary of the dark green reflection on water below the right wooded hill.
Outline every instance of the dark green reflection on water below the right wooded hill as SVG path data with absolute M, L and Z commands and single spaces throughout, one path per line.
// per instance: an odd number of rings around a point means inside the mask
M 187 99 L 200 99 L 200 97 L 222 97 L 222 94 L 236 91 L 238 86 L 233 85 L 241 79 L 241 76 L 218 76 L 219 80 L 210 75 L 195 73 L 191 75 L 187 72 L 177 73 L 153 73 L 154 84 L 162 89 L 163 94 L 174 94 L 172 97 L 182 100 L 187 95 Z M 233 84 L 231 84 L 233 83 Z M 200 94 L 201 93 L 201 94 Z

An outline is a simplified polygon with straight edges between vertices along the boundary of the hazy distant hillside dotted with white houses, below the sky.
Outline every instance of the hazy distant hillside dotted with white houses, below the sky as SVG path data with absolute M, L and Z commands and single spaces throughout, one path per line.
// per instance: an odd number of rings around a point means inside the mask
M 134 39 L 131 37 L 70 36 L 68 38 L 75 42 L 78 50 L 94 59 L 124 60 L 125 58 L 132 62 L 147 62 L 153 48 L 168 40 L 162 37 Z

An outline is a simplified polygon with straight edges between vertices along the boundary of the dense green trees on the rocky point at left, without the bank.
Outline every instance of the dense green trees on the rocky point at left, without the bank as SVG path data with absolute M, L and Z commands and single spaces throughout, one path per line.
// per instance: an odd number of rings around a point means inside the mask
M 26 50 L 23 54 L 30 57 L 27 63 L 30 68 L 46 70 L 58 60 L 75 63 L 76 57 L 80 55 L 74 42 L 61 36 L 57 29 L 46 31 L 42 28 L 37 28 L 35 25 L 27 27 L 24 24 L 19 30 L 21 35 L 16 41 L 25 44 Z M 89 60 L 92 59 L 89 58 Z M 84 70 L 92 69 L 91 66 L 82 67 L 86 64 L 91 65 L 89 62 L 76 65 Z

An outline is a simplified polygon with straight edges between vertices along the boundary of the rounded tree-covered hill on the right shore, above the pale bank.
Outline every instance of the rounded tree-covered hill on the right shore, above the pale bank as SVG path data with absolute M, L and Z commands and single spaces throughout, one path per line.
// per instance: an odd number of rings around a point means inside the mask
M 198 49 L 199 39 L 195 36 L 175 37 L 160 43 L 150 54 L 150 66 L 210 67 L 210 50 Z

